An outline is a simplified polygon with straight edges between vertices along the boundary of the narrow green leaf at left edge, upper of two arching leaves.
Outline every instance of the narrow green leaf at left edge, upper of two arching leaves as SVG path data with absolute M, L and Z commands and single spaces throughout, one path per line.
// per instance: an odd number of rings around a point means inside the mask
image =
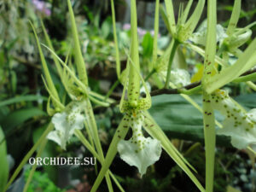
M 17 103 L 17 102 L 32 102 L 32 101 L 38 101 L 38 100 L 47 101 L 47 97 L 36 96 L 36 95 L 16 96 L 16 97 L 7 99 L 3 102 L 0 102 L 0 107 Z

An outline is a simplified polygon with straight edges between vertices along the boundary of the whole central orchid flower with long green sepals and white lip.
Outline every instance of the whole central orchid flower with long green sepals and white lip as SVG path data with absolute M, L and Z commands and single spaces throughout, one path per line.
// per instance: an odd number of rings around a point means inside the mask
M 111 3 L 113 7 L 113 1 L 111 1 Z M 157 3 L 159 5 L 159 1 L 157 1 Z M 156 5 L 156 8 L 158 5 Z M 113 29 L 113 31 L 115 30 Z M 118 44 L 117 41 L 115 41 L 115 43 Z M 99 172 L 90 191 L 96 192 L 96 189 L 102 182 L 102 178 L 108 171 L 117 152 L 119 152 L 121 159 L 125 160 L 130 166 L 137 166 L 138 171 L 141 176 L 143 176 L 147 171 L 147 167 L 153 165 L 156 160 L 160 159 L 161 148 L 163 148 L 177 165 L 188 174 L 198 189 L 200 189 L 201 192 L 204 192 L 205 189 L 201 186 L 201 183 L 189 170 L 189 162 L 177 151 L 177 148 L 173 146 L 169 138 L 166 137 L 164 131 L 161 130 L 160 126 L 156 124 L 147 111 L 147 109 L 151 107 L 151 97 L 148 92 L 147 84 L 140 74 L 136 0 L 131 0 L 130 50 L 130 54 L 126 54 L 128 57 L 126 69 L 121 75 L 121 79 L 123 79 L 121 82 L 124 85 L 124 90 L 119 109 L 120 112 L 125 113 L 125 115 L 113 136 L 101 172 Z M 146 97 L 140 96 L 141 84 L 143 84 L 146 91 Z M 132 137 L 129 140 L 125 140 L 125 136 L 130 127 L 132 130 Z M 143 136 L 143 128 L 152 138 Z M 193 169 L 192 166 L 190 166 L 190 168 Z

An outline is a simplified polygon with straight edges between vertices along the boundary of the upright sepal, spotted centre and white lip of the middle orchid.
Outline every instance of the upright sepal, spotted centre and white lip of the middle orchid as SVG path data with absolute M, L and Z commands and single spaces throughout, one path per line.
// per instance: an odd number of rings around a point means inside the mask
M 143 111 L 151 107 L 151 98 L 148 88 L 139 73 L 137 14 L 135 1 L 131 2 L 131 57 L 128 55 L 127 71 L 123 96 L 120 102 L 120 111 L 125 113 L 127 125 L 132 129 L 130 140 L 120 140 L 117 146 L 120 157 L 130 166 L 137 166 L 143 176 L 147 167 L 160 159 L 160 141 L 143 136 Z M 146 98 L 140 98 L 140 82 L 146 90 Z M 128 84 L 128 88 L 127 88 Z M 127 88 L 127 100 L 125 92 Z

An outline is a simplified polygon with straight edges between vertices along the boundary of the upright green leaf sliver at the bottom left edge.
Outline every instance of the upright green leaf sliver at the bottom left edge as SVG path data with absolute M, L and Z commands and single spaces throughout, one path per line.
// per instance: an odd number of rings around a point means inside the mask
M 6 149 L 6 143 L 4 141 L 4 134 L 2 131 L 2 127 L 0 126 L 0 141 L 3 141 L 3 143 L 0 143 L 0 191 L 3 191 L 9 177 L 9 164 L 7 160 L 7 149 Z

